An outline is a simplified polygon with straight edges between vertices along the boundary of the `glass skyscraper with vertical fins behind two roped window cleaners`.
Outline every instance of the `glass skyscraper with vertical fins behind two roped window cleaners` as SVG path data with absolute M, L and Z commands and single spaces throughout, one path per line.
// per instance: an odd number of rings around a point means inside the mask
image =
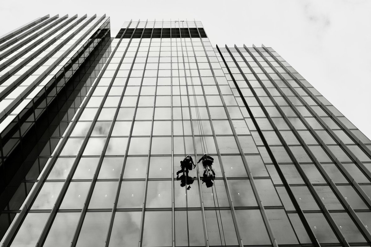
M 80 86 L 46 110 L 46 141 L 1 153 L 4 167 L 23 152 L 4 247 L 370 245 L 371 141 L 272 48 L 213 48 L 198 21 L 129 21 L 107 39 L 94 18 L 97 48 L 59 68 L 74 79 L 51 74 L 57 92 Z M 196 166 L 177 177 L 187 155 Z

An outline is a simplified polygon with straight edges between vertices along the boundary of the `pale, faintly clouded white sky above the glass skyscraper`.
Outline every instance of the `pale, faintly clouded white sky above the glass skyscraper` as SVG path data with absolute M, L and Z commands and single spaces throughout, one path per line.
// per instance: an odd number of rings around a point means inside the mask
M 213 46 L 271 46 L 371 138 L 369 0 L 3 0 L 0 36 L 39 16 L 76 13 L 110 16 L 111 36 L 130 19 L 196 19 Z

